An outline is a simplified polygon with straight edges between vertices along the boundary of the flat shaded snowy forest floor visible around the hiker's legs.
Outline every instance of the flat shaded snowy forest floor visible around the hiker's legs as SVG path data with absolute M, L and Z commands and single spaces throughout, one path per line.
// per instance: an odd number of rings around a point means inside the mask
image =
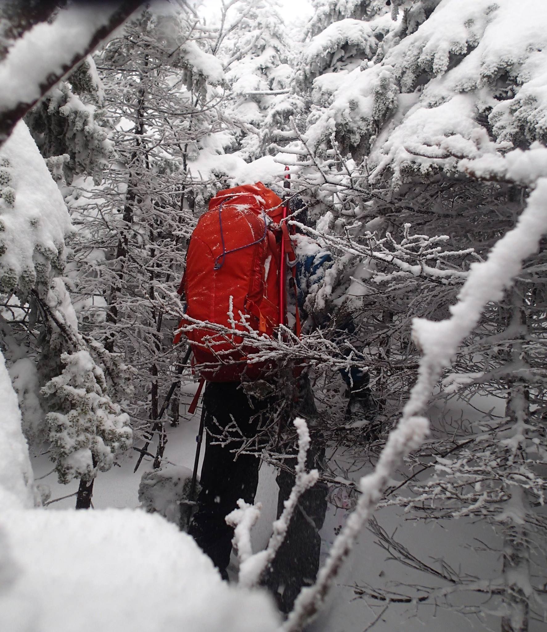
M 199 413 L 188 417 L 185 414 L 191 402 L 192 392 L 181 397 L 181 422 L 177 428 L 167 428 L 168 443 L 165 450 L 165 463 L 167 465 L 185 466 L 192 468 L 196 449 L 196 433 L 199 427 Z M 474 401 L 474 406 L 478 404 Z M 501 401 L 483 401 L 484 410 L 490 410 L 492 406 L 500 408 Z M 480 404 L 479 404 L 480 408 Z M 500 409 L 501 410 L 501 409 Z M 498 410 L 499 411 L 499 410 Z M 449 411 L 432 406 L 430 414 L 432 423 L 450 422 L 450 416 L 458 420 L 462 413 L 470 419 L 479 415 L 478 411 L 466 404 L 450 403 Z M 203 456 L 203 452 L 202 452 Z M 93 506 L 96 509 L 107 507 L 138 507 L 138 485 L 140 477 L 133 474 L 134 464 L 138 453 L 132 451 L 122 457 L 120 466 L 112 468 L 107 473 L 100 474 L 95 481 L 93 494 Z M 337 460 L 343 459 L 337 454 Z M 342 461 L 340 461 L 342 462 Z M 40 473 L 47 473 L 49 464 L 47 459 L 33 459 L 33 466 Z M 139 472 L 149 471 L 151 460 L 141 464 Z M 358 479 L 366 473 L 367 468 L 353 473 Z M 52 499 L 61 497 L 77 489 L 76 482 L 71 485 L 58 485 L 55 475 L 46 476 L 41 482 L 48 483 L 52 489 Z M 401 477 L 402 478 L 402 477 Z M 259 522 L 252 532 L 253 550 L 261 550 L 268 542 L 271 533 L 271 523 L 275 519 L 277 506 L 278 487 L 275 481 L 275 471 L 265 464 L 261 467 L 259 488 L 256 501 L 262 502 L 262 513 Z M 49 506 L 49 509 L 66 509 L 74 506 L 75 499 L 70 497 Z M 329 504 L 326 520 L 322 527 L 322 558 L 327 556 L 332 541 L 348 516 L 348 509 L 341 509 Z M 387 507 L 380 509 L 375 514 L 380 526 L 392 535 L 396 532 L 396 540 L 406 546 L 416 557 L 426 564 L 435 566 L 436 561 L 444 559 L 453 568 L 464 573 L 476 575 L 479 578 L 495 576 L 500 570 L 500 552 L 495 534 L 484 523 L 477 523 L 468 518 L 460 520 L 435 522 L 425 524 L 422 521 L 407 520 L 409 516 L 403 509 Z M 478 632 L 486 629 L 495 629 L 496 619 L 489 615 L 489 611 L 495 610 L 495 603 L 489 602 L 487 597 L 478 600 L 469 593 L 455 595 L 450 600 L 454 606 L 451 609 L 443 607 L 444 600 L 432 601 L 429 604 L 391 604 L 384 611 L 384 604 L 374 603 L 373 600 L 358 599 L 353 586 L 368 585 L 371 588 L 389 588 L 404 594 L 408 592 L 404 584 L 411 586 L 444 586 L 445 583 L 437 581 L 430 574 L 421 573 L 415 569 L 403 566 L 400 562 L 387 559 L 389 556 L 377 543 L 377 538 L 369 530 L 364 530 L 359 538 L 358 545 L 350 557 L 350 561 L 344 567 L 339 576 L 336 587 L 329 597 L 326 609 L 321 617 L 312 624 L 311 632 L 362 632 L 367 626 L 377 619 L 374 625 L 378 632 L 418 632 L 430 629 L 434 632 Z M 488 550 L 487 547 L 492 547 Z M 479 551 L 479 553 L 478 553 Z M 485 602 L 481 609 L 481 602 Z M 457 612 L 457 606 L 465 606 L 462 612 Z M 477 614 L 468 614 L 473 605 L 478 606 Z M 539 632 L 540 627 L 534 628 L 531 624 L 531 632 Z

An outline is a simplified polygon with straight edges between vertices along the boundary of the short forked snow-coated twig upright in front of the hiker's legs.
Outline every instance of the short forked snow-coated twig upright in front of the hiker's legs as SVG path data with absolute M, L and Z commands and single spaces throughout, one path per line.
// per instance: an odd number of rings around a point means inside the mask
M 297 417 L 294 421 L 298 432 L 298 458 L 296 466 L 296 479 L 290 496 L 284 503 L 283 513 L 278 520 L 273 523 L 273 533 L 269 538 L 268 546 L 265 550 L 252 554 L 250 546 L 250 530 L 259 518 L 261 503 L 249 505 L 242 499 L 237 504 L 239 509 L 234 509 L 226 516 L 228 525 L 234 527 L 233 544 L 237 549 L 240 562 L 239 583 L 244 588 L 256 586 L 268 564 L 270 564 L 285 539 L 285 535 L 295 511 L 298 499 L 302 494 L 313 487 L 319 478 L 317 470 L 306 472 L 306 457 L 310 447 L 310 433 L 306 422 Z

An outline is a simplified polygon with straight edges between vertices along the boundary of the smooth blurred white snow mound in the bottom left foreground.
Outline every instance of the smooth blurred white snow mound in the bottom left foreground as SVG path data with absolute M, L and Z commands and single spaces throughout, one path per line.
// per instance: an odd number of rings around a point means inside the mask
M 266 593 L 230 586 L 194 540 L 140 510 L 0 518 L 5 632 L 269 632 Z

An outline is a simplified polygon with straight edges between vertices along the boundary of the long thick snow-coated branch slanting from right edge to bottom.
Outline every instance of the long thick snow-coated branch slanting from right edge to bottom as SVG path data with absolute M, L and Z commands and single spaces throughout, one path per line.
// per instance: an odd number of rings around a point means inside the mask
M 418 380 L 403 409 L 403 416 L 391 432 L 372 473 L 359 483 L 361 495 L 357 506 L 340 534 L 317 581 L 303 588 L 295 607 L 283 624 L 283 632 L 298 632 L 317 614 L 348 557 L 362 526 L 389 483 L 396 466 L 411 450 L 420 446 L 428 434 L 428 420 L 423 411 L 443 368 L 447 367 L 463 339 L 478 323 L 481 312 L 491 301 L 498 301 L 519 274 L 522 262 L 534 253 L 547 233 L 547 178 L 538 180 L 527 207 L 514 229 L 493 246 L 485 262 L 473 264 L 468 279 L 450 308 L 451 317 L 440 322 L 415 319 L 413 335 L 423 351 Z

